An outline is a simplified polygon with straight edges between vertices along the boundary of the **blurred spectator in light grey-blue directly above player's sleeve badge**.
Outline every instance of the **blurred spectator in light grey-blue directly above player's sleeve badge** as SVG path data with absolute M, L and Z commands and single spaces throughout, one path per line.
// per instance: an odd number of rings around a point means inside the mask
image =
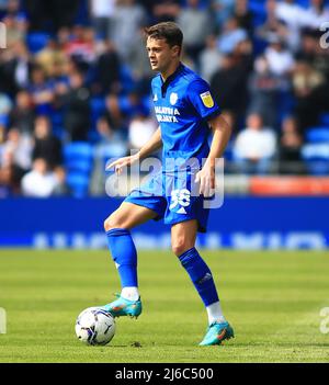
M 216 71 L 222 68 L 223 55 L 217 49 L 216 36 L 206 38 L 206 46 L 200 55 L 200 73 L 203 79 L 211 81 Z

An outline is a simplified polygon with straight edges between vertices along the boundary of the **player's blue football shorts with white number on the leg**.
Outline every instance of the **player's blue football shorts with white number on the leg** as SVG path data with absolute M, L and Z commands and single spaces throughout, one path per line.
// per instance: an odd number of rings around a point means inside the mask
M 171 226 L 196 219 L 198 231 L 206 233 L 209 208 L 204 207 L 194 180 L 195 172 L 159 172 L 134 189 L 125 202 L 152 210 L 155 220 L 164 219 Z

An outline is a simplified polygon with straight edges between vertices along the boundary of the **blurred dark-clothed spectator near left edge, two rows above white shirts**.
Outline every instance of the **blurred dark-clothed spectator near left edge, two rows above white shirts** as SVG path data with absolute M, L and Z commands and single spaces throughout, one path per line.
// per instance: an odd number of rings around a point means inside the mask
M 30 92 L 19 91 L 14 105 L 9 115 L 10 127 L 16 127 L 21 134 L 32 136 L 35 114 Z

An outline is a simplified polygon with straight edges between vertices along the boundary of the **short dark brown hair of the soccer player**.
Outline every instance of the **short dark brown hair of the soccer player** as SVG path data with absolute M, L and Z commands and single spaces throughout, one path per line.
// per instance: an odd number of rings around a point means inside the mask
M 147 37 L 166 39 L 170 47 L 178 45 L 182 50 L 183 33 L 173 22 L 162 22 L 145 29 Z

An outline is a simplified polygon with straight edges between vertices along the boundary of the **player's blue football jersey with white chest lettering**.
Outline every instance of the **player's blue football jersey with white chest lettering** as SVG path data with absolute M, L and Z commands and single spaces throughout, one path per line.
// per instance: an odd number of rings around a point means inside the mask
M 167 159 L 179 159 L 180 169 L 184 168 L 183 165 L 191 167 L 189 160 L 197 159 L 201 167 L 202 159 L 209 152 L 207 121 L 220 114 L 208 83 L 180 64 L 164 82 L 160 73 L 155 77 L 151 88 L 163 141 L 163 170 L 173 168 L 172 161 Z

